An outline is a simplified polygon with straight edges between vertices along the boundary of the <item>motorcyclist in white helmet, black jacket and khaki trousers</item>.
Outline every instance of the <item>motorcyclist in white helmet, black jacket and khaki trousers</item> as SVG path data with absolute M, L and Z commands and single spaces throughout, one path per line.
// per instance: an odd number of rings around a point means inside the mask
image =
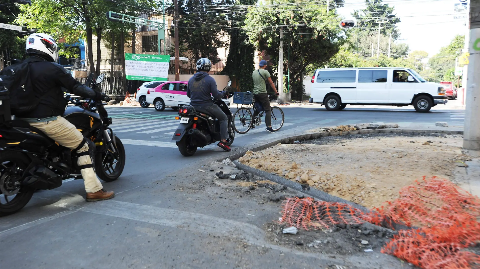
M 29 63 L 29 75 L 36 92 L 42 92 L 39 104 L 28 112 L 16 114 L 16 119 L 24 120 L 40 129 L 61 146 L 75 150 L 78 154 L 77 164 L 84 178 L 86 201 L 94 202 L 114 197 L 113 191 L 105 191 L 96 177 L 92 159 L 88 153 L 88 143 L 82 133 L 66 119 L 67 101 L 64 90 L 85 98 L 109 101 L 104 93 L 82 85 L 65 69 L 57 64 L 58 45 L 48 34 L 31 34 L 26 40 L 26 54 L 30 56 L 24 62 Z

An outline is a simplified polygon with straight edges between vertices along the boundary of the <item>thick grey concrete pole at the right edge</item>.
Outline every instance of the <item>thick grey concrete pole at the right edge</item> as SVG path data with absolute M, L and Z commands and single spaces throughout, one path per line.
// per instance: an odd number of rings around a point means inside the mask
M 480 0 L 470 1 L 469 68 L 466 87 L 463 147 L 480 156 Z M 465 79 L 465 77 L 464 77 Z M 464 82 L 465 84 L 465 82 Z

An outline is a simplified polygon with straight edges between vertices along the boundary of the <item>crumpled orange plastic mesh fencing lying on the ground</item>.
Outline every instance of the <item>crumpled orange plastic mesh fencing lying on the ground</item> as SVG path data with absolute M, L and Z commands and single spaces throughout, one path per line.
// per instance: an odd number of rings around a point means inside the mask
M 334 224 L 390 223 L 400 230 L 382 249 L 425 269 L 480 269 L 480 256 L 465 251 L 480 242 L 480 200 L 449 180 L 431 178 L 402 188 L 399 198 L 365 213 L 337 202 L 288 198 L 281 222 L 297 228 L 324 229 Z

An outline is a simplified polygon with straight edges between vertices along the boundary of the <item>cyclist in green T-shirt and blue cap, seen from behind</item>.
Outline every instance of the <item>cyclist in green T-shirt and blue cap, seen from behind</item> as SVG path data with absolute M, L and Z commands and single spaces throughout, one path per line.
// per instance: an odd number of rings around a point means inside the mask
M 268 93 L 266 89 L 266 83 L 270 84 L 272 89 L 275 91 L 275 95 L 279 95 L 278 91 L 276 91 L 275 84 L 272 81 L 270 73 L 268 73 L 265 68 L 267 67 L 267 61 L 261 60 L 258 64 L 260 68 L 253 71 L 252 79 L 253 79 L 253 97 L 255 98 L 256 102 L 261 102 L 264 110 L 265 110 L 265 124 L 267 125 L 267 132 L 275 133 L 272 129 L 272 109 L 270 108 L 270 100 L 268 99 Z M 260 112 L 254 110 L 253 112 L 253 119 L 258 116 Z M 252 122 L 251 128 L 255 128 L 255 125 Z

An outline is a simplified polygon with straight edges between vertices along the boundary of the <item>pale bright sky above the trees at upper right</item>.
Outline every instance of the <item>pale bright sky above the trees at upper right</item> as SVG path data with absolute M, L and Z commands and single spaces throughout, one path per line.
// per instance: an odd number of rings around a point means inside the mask
M 450 44 L 456 34 L 467 33 L 467 19 L 455 19 L 454 5 L 466 0 L 384 0 L 395 7 L 400 17 L 397 29 L 400 39 L 407 43 L 410 52 L 424 50 L 431 57 L 441 47 Z M 351 12 L 365 8 L 364 0 L 345 0 L 343 8 L 338 9 L 341 17 L 351 17 Z M 397 41 L 398 43 L 400 41 Z

